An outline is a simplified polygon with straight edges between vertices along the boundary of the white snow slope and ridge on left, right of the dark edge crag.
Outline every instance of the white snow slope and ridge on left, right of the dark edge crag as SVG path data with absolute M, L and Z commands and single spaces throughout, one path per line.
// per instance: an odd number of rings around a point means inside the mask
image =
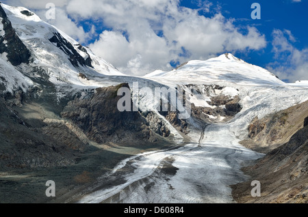
M 18 38 L 31 50 L 32 56 L 34 57 L 34 64 L 51 69 L 50 81 L 52 83 L 57 84 L 59 81 L 64 81 L 64 83 L 83 85 L 84 82 L 77 78 L 79 72 L 87 75 L 97 74 L 97 76 L 100 76 L 99 74 L 103 76 L 125 76 L 125 74 L 119 72 L 112 64 L 97 57 L 89 48 L 85 48 L 64 33 L 64 31 L 45 22 L 34 12 L 31 12 L 31 10 L 23 7 L 13 7 L 3 3 L 1 3 L 1 7 L 3 7 L 5 14 L 8 15 Z M 24 14 L 21 13 L 23 11 L 25 11 Z M 27 14 L 26 12 L 29 12 L 31 15 L 25 15 Z M 60 49 L 57 43 L 52 43 L 50 40 L 55 34 L 61 35 L 64 41 L 67 41 L 62 44 L 71 44 L 70 48 L 66 49 L 65 46 L 62 46 L 62 49 Z M 65 50 L 70 50 L 70 53 L 65 52 Z M 72 59 L 72 55 L 78 56 L 78 64 L 71 64 L 71 60 L 75 59 L 74 57 Z M 55 67 L 60 65 L 63 67 L 63 72 Z

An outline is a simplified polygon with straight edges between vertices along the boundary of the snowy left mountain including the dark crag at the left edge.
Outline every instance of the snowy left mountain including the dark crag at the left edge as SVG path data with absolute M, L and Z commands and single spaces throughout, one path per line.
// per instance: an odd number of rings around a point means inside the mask
M 124 75 L 112 64 L 94 55 L 89 48 L 44 22 L 27 8 L 1 3 L 0 18 L 0 47 L 3 47 L 0 54 L 3 63 L 7 61 L 6 65 L 18 66 L 27 76 L 44 74 L 44 78 L 48 78 L 55 85 L 93 86 L 95 82 L 85 78 Z M 14 40 L 10 40 L 11 34 L 14 34 Z M 23 47 L 27 62 L 19 61 L 18 56 L 21 55 L 13 53 L 16 42 L 19 43 L 18 47 Z M 30 55 L 31 57 L 28 57 Z M 15 59 L 12 61 L 10 57 Z

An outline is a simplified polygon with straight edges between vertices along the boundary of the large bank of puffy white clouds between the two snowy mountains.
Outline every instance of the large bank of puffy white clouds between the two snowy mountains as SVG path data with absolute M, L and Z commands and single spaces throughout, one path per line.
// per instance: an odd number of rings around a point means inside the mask
M 20 1 L 44 13 L 47 1 Z M 127 74 L 142 75 L 156 69 L 170 70 L 170 61 L 208 59 L 224 52 L 259 50 L 266 47 L 265 35 L 255 27 L 236 27 L 213 9 L 210 1 L 194 0 L 198 9 L 181 7 L 180 0 L 66 0 L 57 6 L 57 26 L 80 42 L 85 32 L 81 20 L 101 20 L 105 29 L 89 44 L 94 53 Z M 15 3 L 16 4 L 16 3 Z M 208 13 L 208 16 L 201 16 Z M 211 13 L 210 13 L 211 11 Z M 213 13 L 213 11 L 216 11 Z M 75 21 L 73 21 L 75 20 Z

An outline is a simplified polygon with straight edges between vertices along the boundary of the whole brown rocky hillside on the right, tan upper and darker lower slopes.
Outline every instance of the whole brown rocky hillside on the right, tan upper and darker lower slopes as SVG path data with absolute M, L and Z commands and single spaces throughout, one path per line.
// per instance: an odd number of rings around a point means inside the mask
M 242 144 L 266 156 L 242 170 L 248 182 L 231 186 L 238 203 L 308 203 L 308 102 L 280 111 L 249 126 Z M 306 123 L 306 124 L 305 124 Z M 283 145 L 279 145 L 285 142 Z M 251 196 L 251 182 L 261 183 L 261 197 Z

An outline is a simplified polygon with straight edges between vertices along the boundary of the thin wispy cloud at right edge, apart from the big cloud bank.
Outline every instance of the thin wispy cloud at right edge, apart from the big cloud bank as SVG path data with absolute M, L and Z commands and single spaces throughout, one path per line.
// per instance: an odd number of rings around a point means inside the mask
M 308 80 L 308 48 L 295 48 L 292 43 L 296 40 L 286 29 L 274 29 L 272 37 L 272 52 L 277 61 L 270 63 L 268 70 L 286 81 Z

